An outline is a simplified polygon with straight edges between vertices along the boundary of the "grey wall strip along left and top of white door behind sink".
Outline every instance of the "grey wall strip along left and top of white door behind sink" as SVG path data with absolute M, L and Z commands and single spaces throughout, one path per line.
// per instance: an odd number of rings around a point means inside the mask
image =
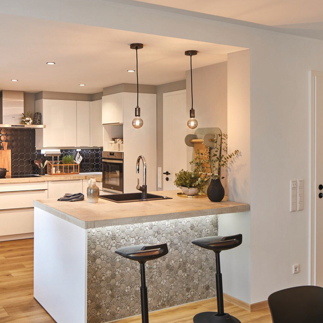
M 163 93 L 186 89 L 186 80 L 157 85 L 157 167 L 163 167 Z M 163 181 L 161 181 L 162 191 Z

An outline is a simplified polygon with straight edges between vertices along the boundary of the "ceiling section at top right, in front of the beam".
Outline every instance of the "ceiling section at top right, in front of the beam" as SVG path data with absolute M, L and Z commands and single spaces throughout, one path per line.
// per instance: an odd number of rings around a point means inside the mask
M 323 39 L 322 0 L 133 0 L 237 19 Z M 239 23 L 239 22 L 237 22 Z

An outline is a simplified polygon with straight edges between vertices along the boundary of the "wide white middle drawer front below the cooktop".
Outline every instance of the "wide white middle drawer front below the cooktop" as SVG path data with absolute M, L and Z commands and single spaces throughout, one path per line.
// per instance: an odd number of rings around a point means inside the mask
M 47 198 L 47 190 L 1 192 L 0 210 L 33 207 L 34 200 L 43 200 Z

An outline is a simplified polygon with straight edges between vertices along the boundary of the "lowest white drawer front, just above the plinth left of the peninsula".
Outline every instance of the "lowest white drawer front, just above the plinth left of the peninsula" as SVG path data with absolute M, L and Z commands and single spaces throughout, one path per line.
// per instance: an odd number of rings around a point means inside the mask
M 0 236 L 31 232 L 34 232 L 34 208 L 0 211 Z

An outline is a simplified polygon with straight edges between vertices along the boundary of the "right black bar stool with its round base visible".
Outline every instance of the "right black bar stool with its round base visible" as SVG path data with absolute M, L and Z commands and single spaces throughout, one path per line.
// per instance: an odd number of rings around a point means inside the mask
M 229 250 L 241 245 L 242 234 L 230 235 L 227 237 L 216 235 L 213 237 L 198 238 L 198 239 L 194 239 L 192 243 L 194 245 L 198 245 L 199 247 L 213 250 L 215 252 L 216 301 L 218 305 L 217 312 L 203 312 L 203 313 L 196 314 L 193 318 L 194 323 L 219 323 L 219 322 L 241 323 L 234 316 L 231 316 L 228 313 L 224 313 L 222 274 L 221 274 L 221 267 L 220 267 L 220 252 L 222 250 Z

